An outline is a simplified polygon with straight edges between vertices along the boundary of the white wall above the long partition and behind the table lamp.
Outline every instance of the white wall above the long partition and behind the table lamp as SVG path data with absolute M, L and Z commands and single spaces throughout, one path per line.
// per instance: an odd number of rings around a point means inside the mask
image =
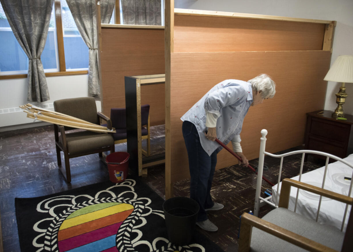
M 174 7 L 335 20 L 337 26 L 331 65 L 339 55 L 353 55 L 353 0 L 175 0 Z M 324 109 L 334 110 L 337 107 L 335 93 L 340 86 L 341 83 L 328 82 Z M 343 109 L 345 113 L 353 115 L 353 83 L 346 83 L 346 88 L 348 97 Z

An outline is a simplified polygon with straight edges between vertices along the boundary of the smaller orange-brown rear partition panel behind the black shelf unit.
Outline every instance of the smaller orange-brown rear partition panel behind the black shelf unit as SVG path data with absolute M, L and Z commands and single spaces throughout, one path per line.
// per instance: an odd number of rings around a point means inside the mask
M 164 29 L 102 27 L 103 113 L 125 107 L 124 76 L 164 73 Z M 150 104 L 151 126 L 164 124 L 164 84 L 141 89 L 142 104 Z

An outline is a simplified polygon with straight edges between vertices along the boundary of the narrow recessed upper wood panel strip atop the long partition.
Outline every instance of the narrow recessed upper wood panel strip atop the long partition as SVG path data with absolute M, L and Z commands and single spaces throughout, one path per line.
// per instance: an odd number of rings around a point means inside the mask
M 322 50 L 326 24 L 174 16 L 174 52 Z

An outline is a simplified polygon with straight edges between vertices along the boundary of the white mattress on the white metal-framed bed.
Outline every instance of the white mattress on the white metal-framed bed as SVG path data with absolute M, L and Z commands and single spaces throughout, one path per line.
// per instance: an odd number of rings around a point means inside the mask
M 353 164 L 353 154 L 344 158 L 344 160 Z M 325 167 L 321 167 L 311 172 L 302 174 L 301 182 L 322 187 L 324 170 L 325 170 Z M 345 180 L 344 176 L 351 178 L 352 172 L 353 172 L 353 169 L 351 167 L 348 167 L 346 164 L 343 164 L 339 161 L 330 163 L 327 169 L 324 188 L 333 192 L 348 195 L 349 185 L 351 181 Z M 295 176 L 292 179 L 298 180 L 299 176 Z M 282 182 L 280 182 L 279 191 L 281 191 L 281 184 Z M 351 193 L 351 197 L 352 197 L 352 194 L 353 194 L 353 190 Z M 289 207 L 288 207 L 289 210 L 294 210 L 296 197 L 297 197 L 297 188 L 292 187 L 291 197 L 289 199 Z M 272 202 L 276 204 L 276 200 L 277 200 L 277 185 L 274 185 L 272 187 Z M 319 204 L 318 194 L 313 194 L 311 192 L 299 190 L 298 203 L 297 203 L 297 209 L 296 209 L 296 212 L 298 214 L 301 214 L 308 218 L 312 218 L 313 220 L 316 220 L 318 204 Z M 325 224 L 334 226 L 338 229 L 341 229 L 345 208 L 346 208 L 346 204 L 343 204 L 341 202 L 338 202 L 336 200 L 332 200 L 326 197 L 322 197 L 318 222 L 325 223 Z M 343 228 L 344 231 L 346 230 L 350 211 L 351 211 L 351 206 L 349 205 L 347 215 L 346 215 L 346 220 L 345 220 L 345 226 Z

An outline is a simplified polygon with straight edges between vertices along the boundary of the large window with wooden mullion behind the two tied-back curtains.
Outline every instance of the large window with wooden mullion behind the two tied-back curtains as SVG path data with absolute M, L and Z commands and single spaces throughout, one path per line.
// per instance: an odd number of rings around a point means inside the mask
M 56 31 L 55 13 L 58 13 L 58 10 L 55 8 L 58 6 L 54 4 L 47 41 L 41 55 L 44 72 L 88 70 L 88 47 L 77 29 L 66 1 L 60 2 L 62 38 L 58 38 L 61 33 Z M 64 52 L 59 51 L 58 39 L 64 41 Z M 60 54 L 65 54 L 65 58 Z M 60 70 L 60 61 L 65 62 L 66 69 Z M 0 4 L 0 75 L 27 74 L 27 72 L 28 57 L 13 35 Z

